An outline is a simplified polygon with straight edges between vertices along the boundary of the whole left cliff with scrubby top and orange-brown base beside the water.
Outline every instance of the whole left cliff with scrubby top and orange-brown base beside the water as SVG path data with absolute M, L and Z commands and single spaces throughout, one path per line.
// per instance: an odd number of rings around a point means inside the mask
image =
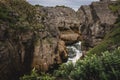
M 25 0 L 0 1 L 0 80 L 17 80 L 34 67 L 48 71 L 67 60 L 65 42 L 45 20 L 44 10 Z

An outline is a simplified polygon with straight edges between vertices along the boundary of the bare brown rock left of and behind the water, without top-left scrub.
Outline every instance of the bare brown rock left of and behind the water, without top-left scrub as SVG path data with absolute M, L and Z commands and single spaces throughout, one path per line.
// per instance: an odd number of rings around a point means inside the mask
M 13 13 L 6 14 L 12 18 L 22 14 Z M 53 66 L 67 61 L 66 45 L 81 39 L 79 20 L 71 8 L 36 7 L 32 15 L 30 22 L 21 20 L 27 17 L 24 15 L 18 22 L 11 23 L 16 27 L 0 19 L 0 80 L 17 80 L 34 67 L 39 71 L 55 68 Z

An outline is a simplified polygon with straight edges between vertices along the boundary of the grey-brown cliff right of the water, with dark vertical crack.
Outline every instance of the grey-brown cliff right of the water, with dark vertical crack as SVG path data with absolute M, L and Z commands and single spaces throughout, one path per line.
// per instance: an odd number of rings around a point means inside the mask
M 93 2 L 81 6 L 77 11 L 80 31 L 83 36 L 83 50 L 88 51 L 99 44 L 105 34 L 114 28 L 117 16 L 109 9 L 112 2 Z

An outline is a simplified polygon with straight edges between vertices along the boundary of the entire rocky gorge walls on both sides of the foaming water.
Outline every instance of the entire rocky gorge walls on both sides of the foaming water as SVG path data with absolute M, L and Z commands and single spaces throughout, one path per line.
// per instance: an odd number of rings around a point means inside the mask
M 112 12 L 110 4 L 116 2 L 101 0 L 75 12 L 65 6 L 0 0 L 0 80 L 17 80 L 32 68 L 49 71 L 66 62 L 67 46 L 79 41 L 84 56 L 115 28 L 120 13 Z

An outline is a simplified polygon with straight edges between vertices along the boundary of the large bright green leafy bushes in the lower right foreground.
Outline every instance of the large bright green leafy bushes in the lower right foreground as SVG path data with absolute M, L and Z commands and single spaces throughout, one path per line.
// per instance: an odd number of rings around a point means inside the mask
M 119 80 L 120 48 L 106 51 L 102 56 L 87 56 L 74 66 L 63 64 L 54 75 L 65 80 Z

